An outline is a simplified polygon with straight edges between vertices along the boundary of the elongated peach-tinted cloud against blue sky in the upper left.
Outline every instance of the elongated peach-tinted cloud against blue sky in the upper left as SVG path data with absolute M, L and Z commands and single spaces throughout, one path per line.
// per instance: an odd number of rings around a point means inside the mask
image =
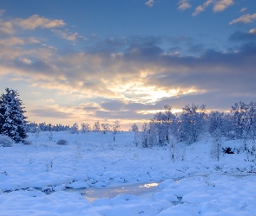
M 28 19 L 16 18 L 12 21 L 16 26 L 21 29 L 53 29 L 56 27 L 63 27 L 66 25 L 62 20 L 50 20 L 45 17 L 40 17 L 38 15 L 30 16 Z

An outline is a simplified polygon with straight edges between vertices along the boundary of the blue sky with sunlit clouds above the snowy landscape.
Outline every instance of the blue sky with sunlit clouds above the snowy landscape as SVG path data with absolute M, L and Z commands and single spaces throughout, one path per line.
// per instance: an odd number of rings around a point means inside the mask
M 254 0 L 0 2 L 0 93 L 31 122 L 118 121 L 256 102 Z

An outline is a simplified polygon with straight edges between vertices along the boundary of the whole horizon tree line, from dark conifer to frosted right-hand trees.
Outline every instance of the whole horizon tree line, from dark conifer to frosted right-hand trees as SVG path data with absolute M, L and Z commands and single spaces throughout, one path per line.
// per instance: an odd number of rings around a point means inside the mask
M 89 124 L 62 125 L 62 124 L 36 124 L 29 123 L 24 116 L 23 101 L 18 92 L 6 88 L 5 93 L 0 96 L 0 135 L 8 136 L 15 142 L 23 142 L 27 132 L 39 131 L 61 131 L 69 130 L 70 133 L 112 131 L 115 134 L 121 126 L 118 122 L 108 124 L 96 121 L 91 127 Z M 256 103 L 246 104 L 242 101 L 235 103 L 229 113 L 211 111 L 207 113 L 206 105 L 185 105 L 181 115 L 174 114 L 172 106 L 165 105 L 163 111 L 154 114 L 148 123 L 142 126 L 141 139 L 139 139 L 138 127 L 133 124 L 135 131 L 135 143 L 141 140 L 142 147 L 154 145 L 167 145 L 175 139 L 176 142 L 187 144 L 200 140 L 206 132 L 210 133 L 215 140 L 221 138 L 251 139 L 253 146 L 256 139 Z M 246 142 L 245 142 L 246 149 Z

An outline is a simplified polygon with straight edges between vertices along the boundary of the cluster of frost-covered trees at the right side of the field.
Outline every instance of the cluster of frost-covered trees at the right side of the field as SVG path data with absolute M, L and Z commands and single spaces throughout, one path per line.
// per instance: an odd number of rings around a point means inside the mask
M 142 147 L 167 145 L 170 139 L 187 144 L 200 140 L 204 133 L 215 139 L 256 139 L 256 103 L 235 103 L 229 113 L 211 111 L 206 105 L 186 105 L 181 115 L 175 115 L 170 105 L 154 114 L 142 127 Z M 245 142 L 246 143 L 246 142 Z M 246 146 L 245 146 L 246 149 Z

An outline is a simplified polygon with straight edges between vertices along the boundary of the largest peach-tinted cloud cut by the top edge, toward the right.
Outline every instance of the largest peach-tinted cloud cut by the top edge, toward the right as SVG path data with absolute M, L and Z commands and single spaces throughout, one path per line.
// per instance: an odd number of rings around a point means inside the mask
M 205 3 L 198 6 L 194 10 L 194 13 L 192 15 L 197 16 L 198 14 L 200 14 L 200 12 L 206 10 L 210 4 L 213 4 L 213 12 L 216 13 L 216 12 L 221 12 L 223 10 L 226 10 L 226 8 L 230 7 L 234 3 L 233 3 L 233 0 L 207 0 Z

